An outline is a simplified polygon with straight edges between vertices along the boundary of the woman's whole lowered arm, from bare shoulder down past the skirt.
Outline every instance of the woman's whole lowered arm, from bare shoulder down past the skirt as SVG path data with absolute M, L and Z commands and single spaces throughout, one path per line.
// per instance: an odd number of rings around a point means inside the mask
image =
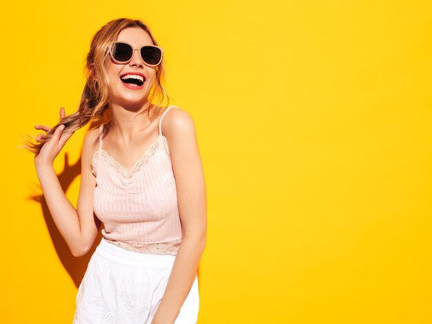
M 188 112 L 171 108 L 163 119 L 169 143 L 181 220 L 181 244 L 152 324 L 173 324 L 192 287 L 206 246 L 206 185 L 195 123 Z

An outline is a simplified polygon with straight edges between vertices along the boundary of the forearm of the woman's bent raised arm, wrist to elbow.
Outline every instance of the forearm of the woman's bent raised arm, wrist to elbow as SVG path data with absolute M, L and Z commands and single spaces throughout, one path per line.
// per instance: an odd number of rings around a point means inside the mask
M 35 163 L 43 196 L 61 236 L 73 255 L 81 252 L 81 229 L 78 213 L 61 188 L 52 165 Z

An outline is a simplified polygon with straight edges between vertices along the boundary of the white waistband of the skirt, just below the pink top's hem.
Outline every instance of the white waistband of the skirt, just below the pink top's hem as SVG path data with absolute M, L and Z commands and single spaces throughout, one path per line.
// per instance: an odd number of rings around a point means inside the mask
M 172 269 L 175 256 L 171 254 L 146 254 L 126 250 L 108 243 L 103 237 L 97 245 L 95 254 L 117 263 L 133 265 L 146 269 Z

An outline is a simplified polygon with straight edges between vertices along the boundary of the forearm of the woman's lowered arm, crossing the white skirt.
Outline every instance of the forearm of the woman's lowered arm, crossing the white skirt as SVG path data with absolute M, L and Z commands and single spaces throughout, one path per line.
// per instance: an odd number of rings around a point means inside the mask
M 175 322 L 197 275 L 199 260 L 205 246 L 205 238 L 190 237 L 181 241 L 164 296 L 155 314 L 155 323 Z

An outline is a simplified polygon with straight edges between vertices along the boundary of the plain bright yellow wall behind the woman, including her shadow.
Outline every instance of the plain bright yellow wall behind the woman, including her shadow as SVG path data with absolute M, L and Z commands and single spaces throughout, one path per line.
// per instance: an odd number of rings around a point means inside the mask
M 90 256 L 21 135 L 77 110 L 93 34 L 142 19 L 208 190 L 199 323 L 431 323 L 430 1 L 12 1 L 1 13 L 1 323 L 71 323 Z M 77 131 L 55 160 L 76 206 Z

